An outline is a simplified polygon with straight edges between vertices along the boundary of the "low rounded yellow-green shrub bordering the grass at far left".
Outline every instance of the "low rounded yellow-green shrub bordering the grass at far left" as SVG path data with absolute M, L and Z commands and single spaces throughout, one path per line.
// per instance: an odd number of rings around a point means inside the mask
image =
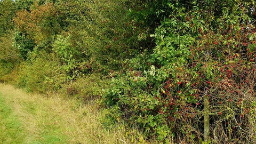
M 54 85 L 47 85 L 48 77 L 58 75 L 58 63 L 54 57 L 54 54 L 48 55 L 43 50 L 32 52 L 29 61 L 25 62 L 25 67 L 20 72 L 22 76 L 19 85 L 30 92 L 46 93 L 54 90 Z

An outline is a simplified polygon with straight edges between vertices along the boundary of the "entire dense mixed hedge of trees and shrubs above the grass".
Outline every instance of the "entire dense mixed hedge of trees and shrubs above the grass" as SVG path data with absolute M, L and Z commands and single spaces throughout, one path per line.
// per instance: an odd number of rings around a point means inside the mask
M 254 143 L 254 1 L 1 1 L 0 80 L 99 100 L 139 142 Z

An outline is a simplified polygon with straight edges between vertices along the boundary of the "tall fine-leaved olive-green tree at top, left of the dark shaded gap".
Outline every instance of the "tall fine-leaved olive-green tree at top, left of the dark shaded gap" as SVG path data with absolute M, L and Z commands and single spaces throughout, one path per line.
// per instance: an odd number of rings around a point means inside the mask
M 71 34 L 72 47 L 83 53 L 83 61 L 90 66 L 90 71 L 106 75 L 123 69 L 125 59 L 139 52 L 134 41 L 138 37 L 133 36 L 129 18 L 125 17 L 124 1 L 58 3 L 63 23 Z

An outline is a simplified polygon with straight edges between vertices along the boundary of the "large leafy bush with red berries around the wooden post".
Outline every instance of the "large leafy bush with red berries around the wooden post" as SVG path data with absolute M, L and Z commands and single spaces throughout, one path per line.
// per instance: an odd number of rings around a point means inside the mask
M 130 60 L 104 93 L 106 105 L 118 108 L 110 117 L 166 143 L 254 143 L 253 3 L 230 1 L 210 13 L 208 1 L 166 2 L 170 13 L 151 35 L 153 53 Z

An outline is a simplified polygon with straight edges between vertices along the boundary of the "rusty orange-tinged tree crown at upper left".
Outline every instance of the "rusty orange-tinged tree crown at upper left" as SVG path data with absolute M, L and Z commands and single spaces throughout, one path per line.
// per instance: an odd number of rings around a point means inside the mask
M 26 34 L 27 38 L 33 39 L 36 44 L 51 40 L 52 35 L 60 31 L 58 11 L 52 3 L 35 3 L 30 11 L 17 12 L 17 17 L 13 21 L 19 31 Z

